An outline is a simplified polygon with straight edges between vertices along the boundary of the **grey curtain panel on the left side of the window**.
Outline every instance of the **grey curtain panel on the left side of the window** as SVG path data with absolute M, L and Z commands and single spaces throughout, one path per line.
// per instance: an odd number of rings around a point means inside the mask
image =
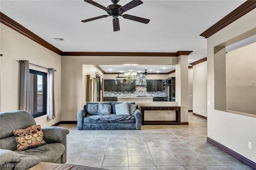
M 29 61 L 20 61 L 20 110 L 31 113 Z

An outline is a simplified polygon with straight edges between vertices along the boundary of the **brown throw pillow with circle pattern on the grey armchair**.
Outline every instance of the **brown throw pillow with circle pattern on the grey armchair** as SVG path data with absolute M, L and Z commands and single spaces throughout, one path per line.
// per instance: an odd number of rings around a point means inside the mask
M 18 151 L 46 144 L 41 125 L 34 125 L 25 129 L 16 129 L 13 130 L 12 133 L 16 136 L 15 139 Z

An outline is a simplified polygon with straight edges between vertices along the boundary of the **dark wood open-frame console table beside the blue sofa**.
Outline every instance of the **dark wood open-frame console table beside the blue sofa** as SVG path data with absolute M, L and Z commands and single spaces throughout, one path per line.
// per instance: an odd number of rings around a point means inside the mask
M 175 121 L 144 121 L 144 111 L 176 111 Z M 180 106 L 141 106 L 142 125 L 180 125 Z

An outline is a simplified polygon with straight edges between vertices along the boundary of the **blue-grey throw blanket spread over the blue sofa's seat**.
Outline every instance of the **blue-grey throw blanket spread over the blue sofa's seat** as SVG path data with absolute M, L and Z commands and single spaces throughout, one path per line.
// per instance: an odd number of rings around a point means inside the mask
M 102 121 L 123 121 L 131 119 L 132 115 L 86 115 L 94 120 L 102 120 Z

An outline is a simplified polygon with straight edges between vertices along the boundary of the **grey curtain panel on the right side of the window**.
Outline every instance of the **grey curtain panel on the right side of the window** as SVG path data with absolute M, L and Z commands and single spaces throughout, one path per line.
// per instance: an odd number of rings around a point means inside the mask
M 48 69 L 49 71 L 49 90 L 48 90 L 48 120 L 56 118 L 55 104 L 54 104 L 54 69 Z

